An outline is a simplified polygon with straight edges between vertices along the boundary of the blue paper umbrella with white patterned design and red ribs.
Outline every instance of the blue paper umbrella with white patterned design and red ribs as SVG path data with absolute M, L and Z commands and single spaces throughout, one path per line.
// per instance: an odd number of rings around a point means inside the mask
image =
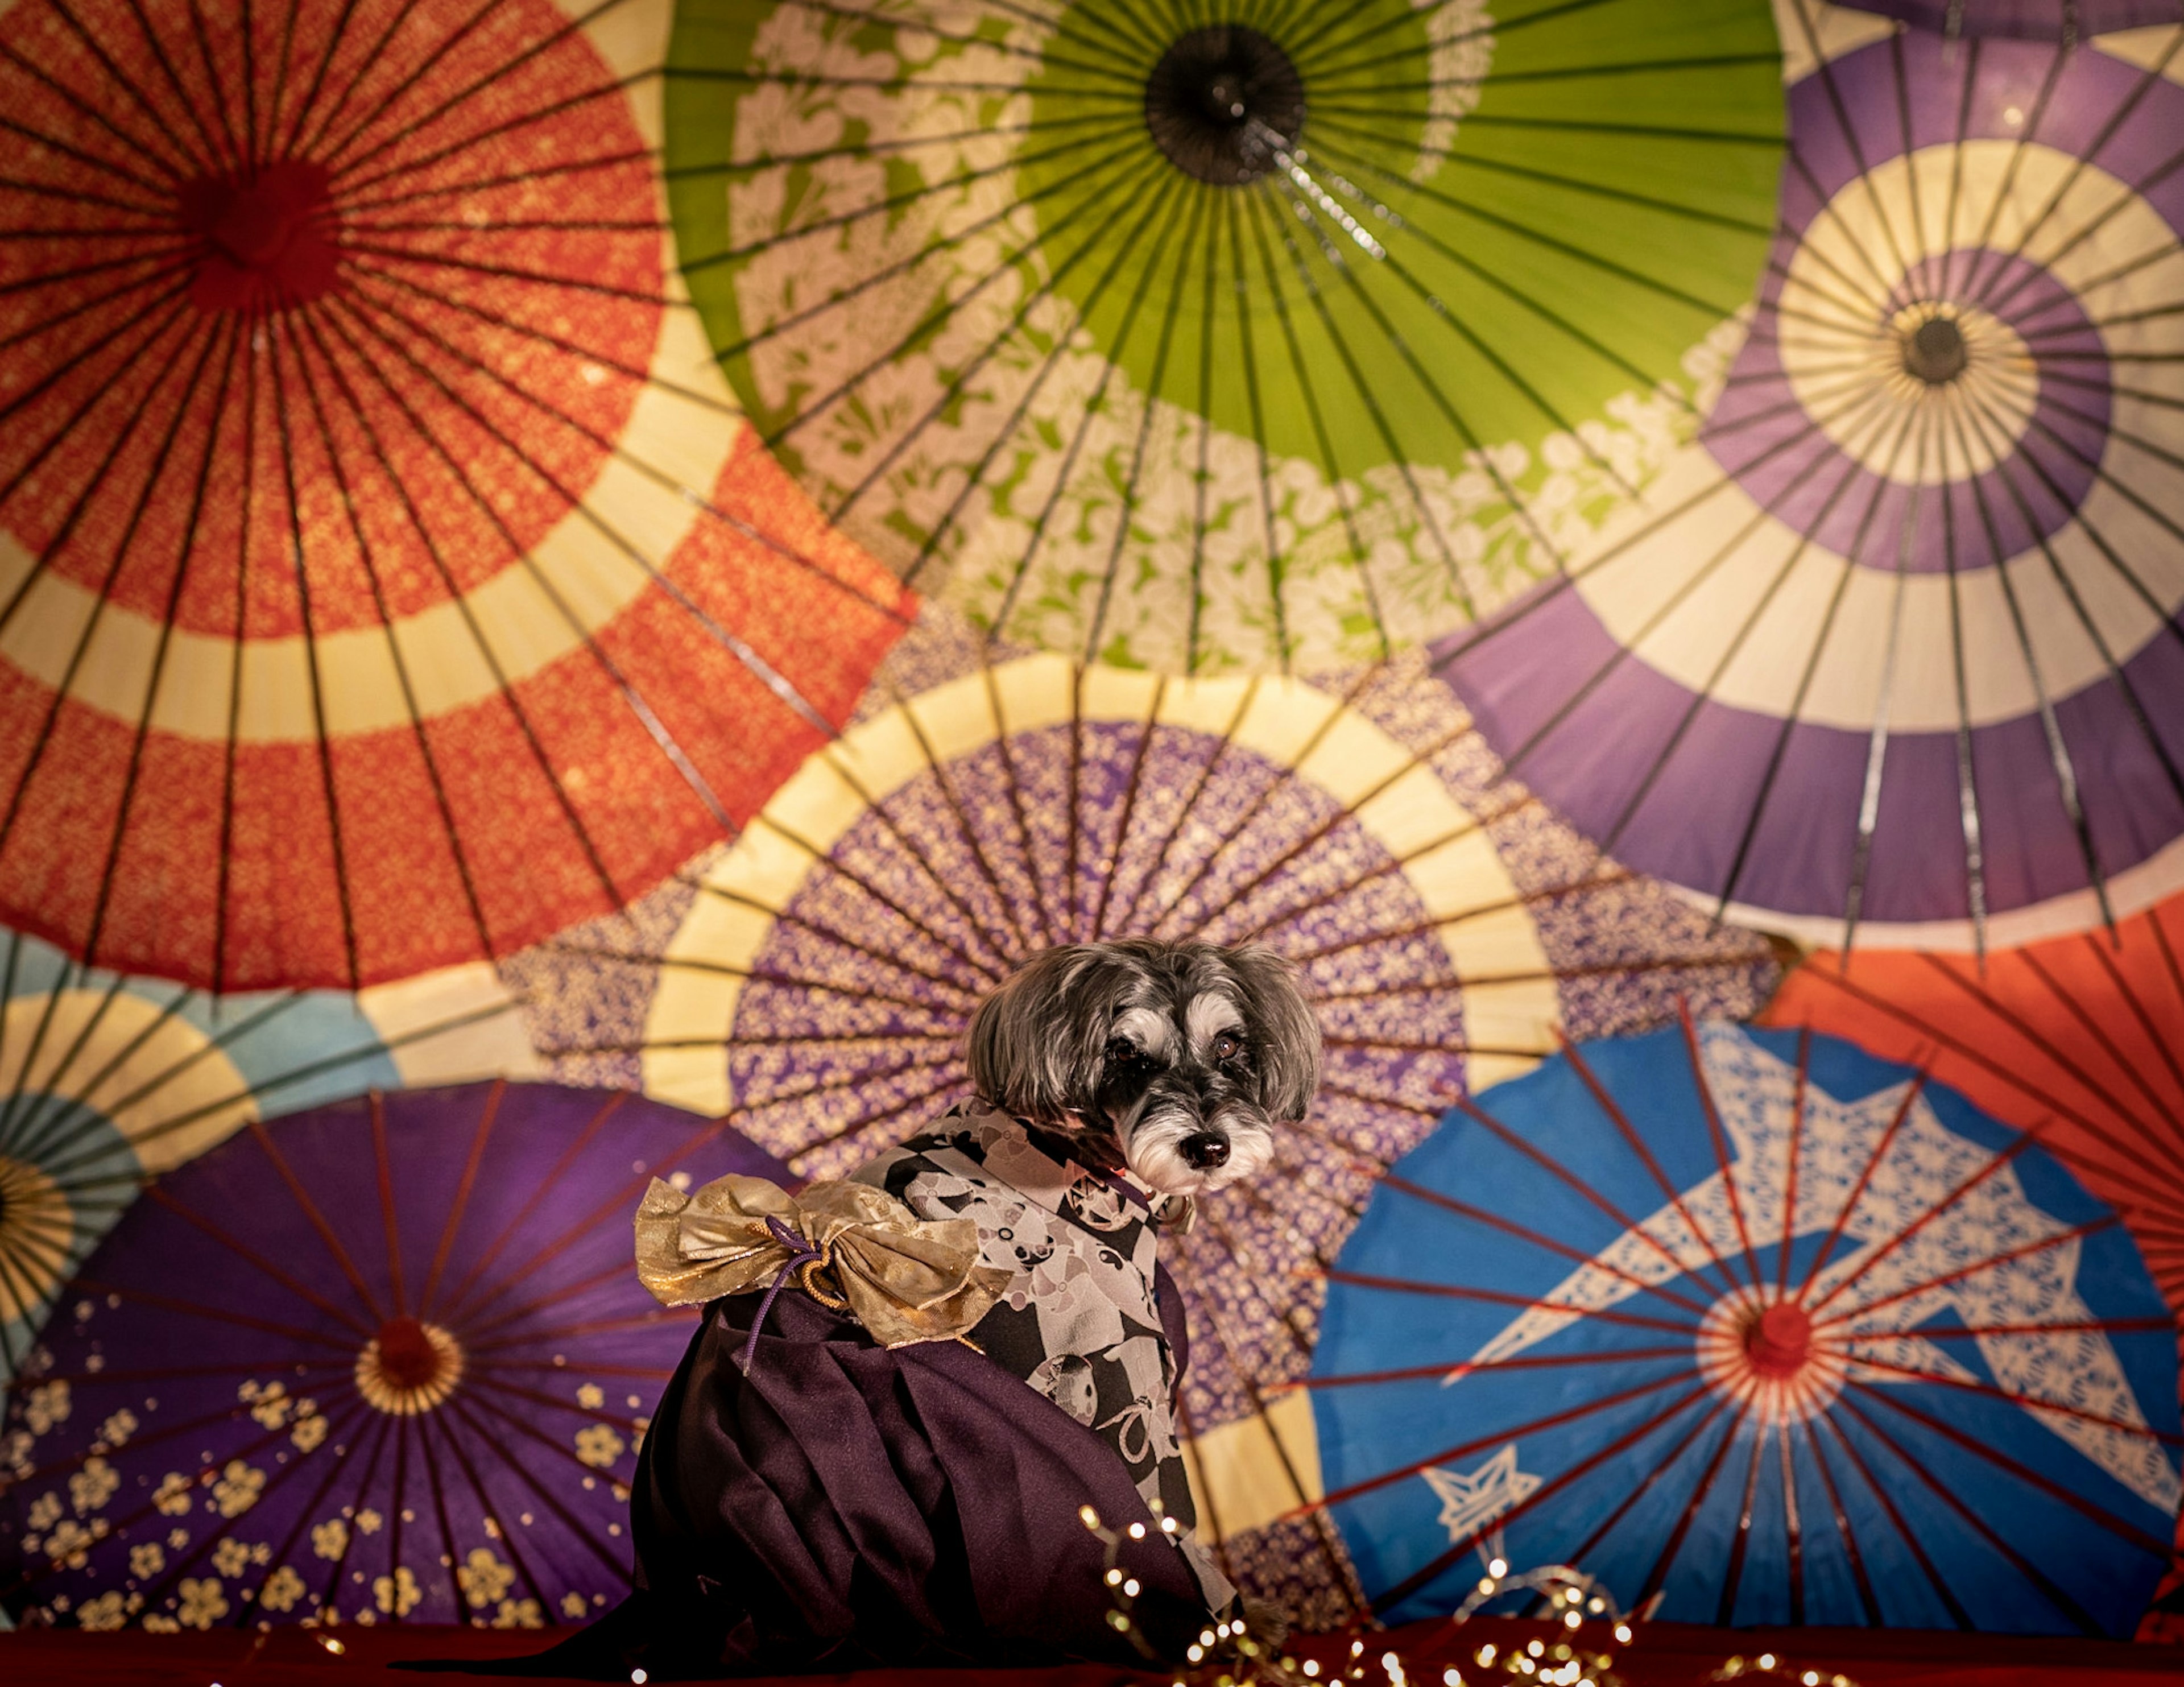
M 1489 1558 L 1704 1624 L 2129 1635 L 2175 1324 L 2029 1136 L 1848 1042 L 1682 1025 L 1461 1104 L 1374 1191 L 1313 1364 L 1391 1619 Z

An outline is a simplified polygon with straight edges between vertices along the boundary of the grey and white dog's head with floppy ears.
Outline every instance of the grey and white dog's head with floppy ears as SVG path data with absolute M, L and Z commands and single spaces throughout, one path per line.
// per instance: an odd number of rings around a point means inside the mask
M 1020 1119 L 1085 1132 L 1166 1195 L 1260 1171 L 1319 1086 L 1319 1023 L 1262 948 L 1051 948 L 987 996 L 970 1077 Z

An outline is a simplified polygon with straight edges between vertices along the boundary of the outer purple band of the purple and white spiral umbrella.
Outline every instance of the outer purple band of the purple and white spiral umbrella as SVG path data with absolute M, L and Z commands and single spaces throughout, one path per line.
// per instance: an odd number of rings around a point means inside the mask
M 1616 660 L 1618 647 L 1575 592 L 1542 588 L 1518 607 L 1522 614 L 1511 612 L 1503 634 L 1439 662 L 1487 741 L 1516 758 L 1518 778 L 1625 863 L 1721 894 L 1782 739 L 1780 721 L 1714 701 L 1693 712 L 1684 686 L 1636 658 Z M 2162 723 L 2171 756 L 2184 763 L 2184 710 L 2171 701 L 2184 697 L 2177 640 L 2151 642 L 2125 673 Z M 1594 675 L 1601 682 L 1555 721 Z M 2103 874 L 2145 861 L 2184 833 L 2184 802 L 2116 686 L 2088 686 L 2055 715 Z M 1734 900 L 1802 916 L 1843 913 L 1867 750 L 1865 732 L 1789 732 Z M 1972 765 L 1987 909 L 2084 887 L 2084 850 L 2038 715 L 1974 730 Z M 1891 734 L 1863 918 L 1968 913 L 1955 734 Z

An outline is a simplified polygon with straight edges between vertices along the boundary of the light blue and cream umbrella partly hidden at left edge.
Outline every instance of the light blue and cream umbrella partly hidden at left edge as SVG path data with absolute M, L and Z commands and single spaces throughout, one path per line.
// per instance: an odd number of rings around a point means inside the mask
M 0 931 L 0 1383 L 144 1178 L 253 1119 L 535 1066 L 485 968 L 207 996 Z

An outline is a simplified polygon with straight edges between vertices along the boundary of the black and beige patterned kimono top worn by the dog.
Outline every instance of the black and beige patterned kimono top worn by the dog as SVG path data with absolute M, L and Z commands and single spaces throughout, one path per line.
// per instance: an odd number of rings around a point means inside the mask
M 1144 1501 L 1188 1532 L 1197 1510 L 1175 1436 L 1177 1364 L 1155 1285 L 1160 1228 L 1186 1217 L 1188 1202 L 1127 1171 L 1088 1169 L 1070 1158 L 1068 1139 L 983 1101 L 852 1176 L 924 1219 L 978 1222 L 983 1261 L 1013 1281 L 972 1340 L 1107 1442 Z M 1192 1536 L 1182 1545 L 1208 1608 L 1227 1608 L 1236 1589 Z

